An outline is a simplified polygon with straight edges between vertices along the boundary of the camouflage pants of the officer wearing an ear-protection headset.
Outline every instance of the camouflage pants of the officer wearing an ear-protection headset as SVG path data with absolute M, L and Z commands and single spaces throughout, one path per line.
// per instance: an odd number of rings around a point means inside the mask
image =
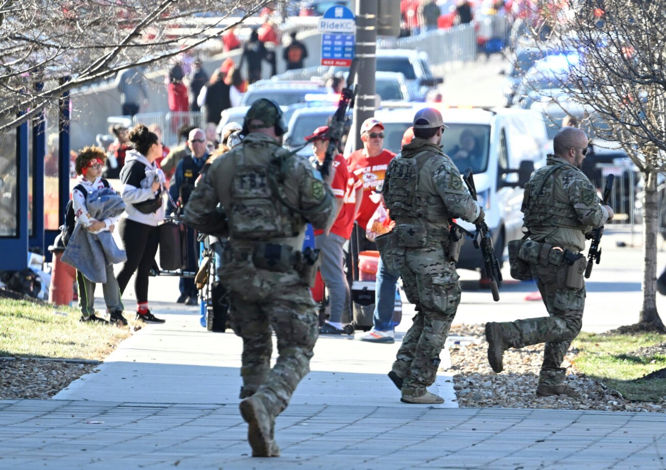
M 261 286 L 258 290 L 257 285 Z M 256 270 L 254 281 L 243 284 L 227 279 L 226 286 L 230 287 L 231 327 L 243 339 L 242 395 L 259 396 L 269 413 L 277 416 L 310 371 L 319 334 L 310 289 L 295 271 Z M 278 359 L 271 369 L 272 331 L 277 337 Z

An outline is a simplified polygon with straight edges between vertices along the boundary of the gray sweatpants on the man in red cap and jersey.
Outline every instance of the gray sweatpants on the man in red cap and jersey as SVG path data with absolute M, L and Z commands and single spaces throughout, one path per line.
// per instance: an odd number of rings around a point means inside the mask
M 334 233 L 328 236 L 322 233 L 314 237 L 314 245 L 321 250 L 319 256 L 322 258 L 322 265 L 319 271 L 330 296 L 331 310 L 328 321 L 332 323 L 340 323 L 343 313 L 346 314 L 344 315 L 346 318 L 349 317 L 349 284 L 344 275 L 342 250 L 345 242 L 344 238 Z

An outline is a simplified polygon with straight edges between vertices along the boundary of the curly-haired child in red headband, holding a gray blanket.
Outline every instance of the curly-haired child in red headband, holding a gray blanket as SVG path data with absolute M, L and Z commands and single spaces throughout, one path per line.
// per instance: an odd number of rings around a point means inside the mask
M 85 147 L 75 161 L 75 169 L 79 178 L 72 191 L 72 207 L 77 223 L 84 225 L 91 233 L 102 231 L 113 232 L 118 217 L 114 219 L 96 220 L 88 213 L 87 197 L 97 189 L 109 188 L 109 181 L 102 177 L 102 171 L 107 161 L 107 155 L 99 147 Z M 81 308 L 81 321 L 109 323 L 95 312 L 95 283 L 87 279 L 77 270 L 77 283 L 79 284 L 79 307 Z M 107 282 L 102 285 L 104 300 L 109 312 L 109 321 L 119 326 L 127 325 L 123 317 L 123 302 L 121 301 L 118 281 L 113 273 L 113 264 L 107 265 Z

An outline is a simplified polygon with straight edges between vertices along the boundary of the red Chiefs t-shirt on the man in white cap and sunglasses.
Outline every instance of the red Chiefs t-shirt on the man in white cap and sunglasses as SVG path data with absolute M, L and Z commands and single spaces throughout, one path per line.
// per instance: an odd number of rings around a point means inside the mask
M 396 154 L 389 150 L 382 150 L 382 153 L 376 157 L 368 157 L 364 153 L 364 149 L 360 149 L 351 153 L 347 157 L 347 164 L 350 171 L 360 179 L 363 184 L 363 200 L 361 207 L 358 209 L 356 221 L 358 225 L 365 229 L 368 226 L 368 221 L 374 211 L 377 210 L 379 201 L 374 203 L 370 200 L 372 191 L 377 189 L 377 186 L 384 182 L 384 175 L 388 168 L 388 163 L 395 157 Z

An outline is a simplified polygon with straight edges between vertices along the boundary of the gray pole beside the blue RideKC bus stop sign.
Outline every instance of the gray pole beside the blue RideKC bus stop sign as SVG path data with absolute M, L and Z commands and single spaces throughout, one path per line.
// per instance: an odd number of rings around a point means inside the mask
M 396 0 L 397 1 L 397 0 Z M 360 59 L 356 84 L 354 120 L 349 136 L 354 139 L 352 148 L 363 147 L 360 139 L 361 124 L 375 112 L 375 73 L 377 52 L 377 0 L 356 1 L 356 46 L 354 57 Z

